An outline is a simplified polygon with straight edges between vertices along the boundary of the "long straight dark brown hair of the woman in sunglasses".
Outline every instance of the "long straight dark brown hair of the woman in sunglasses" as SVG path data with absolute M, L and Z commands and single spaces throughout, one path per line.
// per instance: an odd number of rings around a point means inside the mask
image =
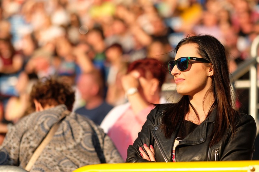
M 219 142 L 222 139 L 224 132 L 231 127 L 232 132 L 235 132 L 235 118 L 237 111 L 233 109 L 231 84 L 229 79 L 229 69 L 224 46 L 211 35 L 187 36 L 182 39 L 175 48 L 175 52 L 185 45 L 195 43 L 198 45 L 198 53 L 204 59 L 211 62 L 214 75 L 212 76 L 212 86 L 209 91 L 212 91 L 214 103 L 209 109 L 208 116 L 215 109 L 216 122 L 212 131 L 210 146 Z M 208 93 L 207 92 L 207 93 Z M 195 111 L 196 116 L 199 116 L 189 101 L 188 95 L 183 96 L 178 103 L 171 107 L 171 113 L 163 117 L 162 126 L 165 136 L 171 137 L 172 133 L 177 129 L 185 118 L 185 115 L 190 111 L 189 106 Z M 177 123 L 175 121 L 178 121 Z

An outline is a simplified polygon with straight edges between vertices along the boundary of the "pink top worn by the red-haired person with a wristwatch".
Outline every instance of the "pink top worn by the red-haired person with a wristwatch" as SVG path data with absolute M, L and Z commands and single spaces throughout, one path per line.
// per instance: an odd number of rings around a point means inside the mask
M 108 135 L 117 147 L 124 161 L 127 158 L 127 149 L 129 145 L 138 137 L 138 133 L 142 129 L 143 124 L 147 120 L 147 115 L 154 106 L 148 106 L 138 114 L 134 114 L 129 107 L 109 129 Z

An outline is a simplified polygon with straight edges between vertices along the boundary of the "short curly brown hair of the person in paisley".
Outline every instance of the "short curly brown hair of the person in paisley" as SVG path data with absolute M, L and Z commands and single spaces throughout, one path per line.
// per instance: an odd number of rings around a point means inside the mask
M 71 85 L 58 78 L 53 76 L 43 77 L 33 85 L 29 97 L 31 108 L 35 110 L 34 99 L 43 107 L 64 104 L 71 111 L 75 100 L 75 92 Z

